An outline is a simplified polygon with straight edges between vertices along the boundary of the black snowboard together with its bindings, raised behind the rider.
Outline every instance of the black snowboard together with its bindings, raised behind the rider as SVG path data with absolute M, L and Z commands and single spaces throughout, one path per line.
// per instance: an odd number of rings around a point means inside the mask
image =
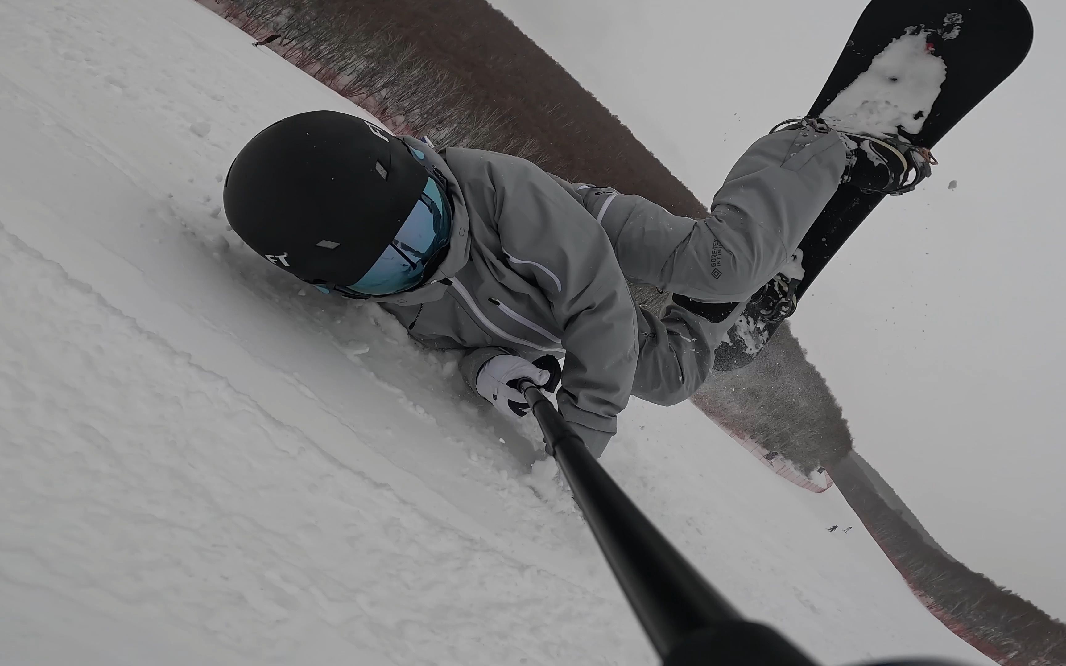
M 794 311 L 795 300 L 803 299 L 822 270 L 884 195 L 910 192 L 927 178 L 936 164 L 928 149 L 1025 59 L 1033 42 L 1033 21 L 1022 0 L 978 0 L 967 4 L 965 26 L 960 22 L 959 6 L 955 0 L 871 0 L 804 117 L 786 120 L 771 130 L 797 130 L 797 134 L 813 130 L 827 134 L 835 129 L 850 142 L 846 157 L 853 164 L 847 165 L 846 180 L 841 178 L 845 182 L 837 188 L 800 242 L 804 278 L 794 290 L 788 281 L 782 283 L 775 278 L 772 282 L 776 285 L 768 285 L 756 293 L 738 323 L 715 347 L 715 370 L 733 371 L 758 357 L 780 325 L 765 318 L 784 320 L 782 315 Z M 925 37 L 924 44 L 919 35 Z M 900 60 L 891 54 L 900 53 L 904 47 L 914 48 L 914 59 L 908 55 Z M 890 56 L 882 58 L 886 53 Z M 911 70 L 924 71 L 926 65 L 934 64 L 932 59 L 942 61 L 943 84 L 935 98 L 911 99 L 910 83 L 918 80 L 910 81 L 908 76 Z M 869 95 L 855 88 L 853 98 L 842 99 L 842 93 L 866 74 L 870 75 L 866 77 L 871 85 Z M 903 85 L 894 85 L 897 74 L 903 77 Z M 885 77 L 881 83 L 878 76 Z M 824 119 L 829 115 L 862 117 L 860 107 L 867 101 L 872 107 L 867 104 L 866 111 L 882 103 L 900 107 L 898 102 L 905 102 L 903 107 L 911 112 L 910 117 L 921 121 L 908 123 L 906 131 L 902 129 L 905 126 L 889 126 L 888 136 L 874 137 L 862 131 L 849 131 L 839 120 L 830 118 L 827 125 Z M 827 111 L 830 107 L 835 107 L 833 114 Z M 808 133 L 805 139 L 817 136 Z M 753 337 L 753 330 L 759 331 L 758 338 Z

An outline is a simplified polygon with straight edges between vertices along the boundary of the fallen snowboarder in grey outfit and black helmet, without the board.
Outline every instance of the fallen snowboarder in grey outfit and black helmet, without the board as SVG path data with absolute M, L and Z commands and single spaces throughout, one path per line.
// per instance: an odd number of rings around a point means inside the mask
M 531 361 L 565 354 L 559 407 L 598 456 L 630 395 L 672 405 L 702 384 L 723 335 L 842 177 L 881 191 L 906 178 L 905 145 L 860 142 L 787 121 L 741 157 L 710 217 L 693 220 L 520 158 L 437 152 L 314 111 L 241 150 L 224 202 L 233 230 L 278 267 L 379 303 L 431 347 L 468 350 L 464 377 L 504 413 L 528 408 L 517 378 L 552 379 Z M 640 308 L 626 278 L 672 300 Z

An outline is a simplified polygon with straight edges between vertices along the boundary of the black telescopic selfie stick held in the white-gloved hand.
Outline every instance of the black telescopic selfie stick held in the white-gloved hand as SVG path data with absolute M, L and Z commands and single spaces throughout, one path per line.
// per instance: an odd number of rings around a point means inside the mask
M 773 629 L 741 618 L 603 471 L 533 383 L 521 381 L 519 390 L 665 666 L 813 666 Z

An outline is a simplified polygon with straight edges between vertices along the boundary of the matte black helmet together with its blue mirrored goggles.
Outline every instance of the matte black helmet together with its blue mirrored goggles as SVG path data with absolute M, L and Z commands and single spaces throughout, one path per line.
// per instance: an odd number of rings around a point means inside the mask
M 415 287 L 439 263 L 451 227 L 442 184 L 379 127 L 311 111 L 244 146 L 223 202 L 233 231 L 275 265 L 308 282 L 378 295 Z M 403 275 L 383 279 L 386 271 Z M 365 276 L 373 286 L 360 291 Z

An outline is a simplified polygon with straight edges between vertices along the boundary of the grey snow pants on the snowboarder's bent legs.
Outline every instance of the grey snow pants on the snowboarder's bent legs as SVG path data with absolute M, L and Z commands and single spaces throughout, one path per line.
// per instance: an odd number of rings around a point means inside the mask
M 633 395 L 673 405 L 702 385 L 714 348 L 748 298 L 788 262 L 833 196 L 846 162 L 836 132 L 780 131 L 756 141 L 729 172 L 711 215 L 672 215 L 640 196 L 579 188 L 623 273 L 706 303 L 738 303 L 712 323 L 667 302 L 662 312 L 639 309 L 641 347 Z

